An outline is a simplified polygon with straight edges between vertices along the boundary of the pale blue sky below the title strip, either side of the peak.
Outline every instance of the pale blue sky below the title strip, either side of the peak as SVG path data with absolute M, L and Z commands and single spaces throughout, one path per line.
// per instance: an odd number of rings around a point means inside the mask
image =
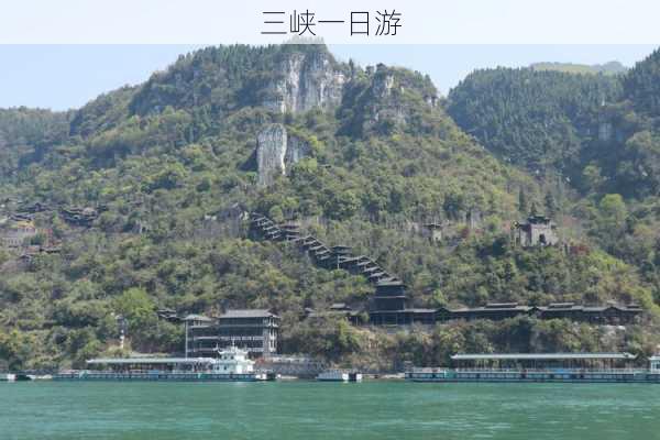
M 79 108 L 102 92 L 136 85 L 202 45 L 0 45 L 0 108 Z M 537 62 L 626 66 L 653 45 L 330 45 L 342 61 L 362 66 L 384 63 L 428 74 L 446 95 L 470 72 L 522 67 Z

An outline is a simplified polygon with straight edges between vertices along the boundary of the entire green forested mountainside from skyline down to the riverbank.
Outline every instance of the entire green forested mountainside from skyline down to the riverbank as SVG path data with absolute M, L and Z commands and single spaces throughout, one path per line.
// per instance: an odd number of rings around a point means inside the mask
M 656 74 L 638 66 L 622 84 L 484 70 L 444 102 L 420 73 L 339 63 L 318 45 L 239 45 L 180 56 L 72 112 L 2 110 L 0 219 L 32 207 L 47 232 L 37 241 L 58 252 L 0 251 L 0 358 L 14 369 L 81 365 L 117 350 L 118 315 L 133 350 L 180 351 L 183 329 L 158 320 L 158 307 L 268 307 L 284 318 L 285 352 L 385 369 L 507 346 L 651 352 L 660 245 L 656 177 L 639 164 L 653 154 L 658 113 L 634 90 L 654 92 Z M 598 121 L 622 134 L 600 143 Z M 306 153 L 264 187 L 255 151 L 274 123 Z M 631 176 L 594 153 L 619 141 Z M 549 170 L 581 177 L 552 179 Z M 624 174 L 639 185 L 616 190 L 612 179 Z M 364 308 L 373 287 L 320 271 L 295 249 L 250 240 L 242 210 L 298 220 L 374 256 L 416 306 L 615 300 L 649 316 L 626 331 L 534 319 L 410 334 L 332 318 L 312 326 L 305 308 Z M 510 242 L 510 226 L 530 210 L 563 219 L 565 248 Z M 94 216 L 73 221 L 67 212 Z M 442 242 L 418 233 L 425 222 L 443 224 Z

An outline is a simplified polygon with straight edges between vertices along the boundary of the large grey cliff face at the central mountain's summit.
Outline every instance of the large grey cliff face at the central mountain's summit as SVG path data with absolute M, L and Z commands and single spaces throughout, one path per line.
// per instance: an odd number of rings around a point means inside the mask
M 295 53 L 280 62 L 282 76 L 267 86 L 263 106 L 279 112 L 298 113 L 331 108 L 341 102 L 344 75 L 324 53 Z

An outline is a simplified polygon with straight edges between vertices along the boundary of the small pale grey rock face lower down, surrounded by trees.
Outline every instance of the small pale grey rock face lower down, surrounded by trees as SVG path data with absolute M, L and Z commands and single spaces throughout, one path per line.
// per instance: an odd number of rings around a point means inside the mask
M 256 138 L 258 185 L 270 186 L 275 176 L 286 175 L 287 167 L 309 156 L 310 147 L 296 136 L 288 136 L 283 124 L 272 124 Z

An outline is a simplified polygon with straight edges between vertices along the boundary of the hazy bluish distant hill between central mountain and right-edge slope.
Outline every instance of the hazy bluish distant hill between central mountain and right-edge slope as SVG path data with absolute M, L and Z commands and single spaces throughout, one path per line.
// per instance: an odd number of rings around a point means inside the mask
M 602 108 L 620 99 L 617 78 L 497 68 L 462 80 L 449 94 L 448 111 L 503 160 L 571 175 L 598 135 Z

